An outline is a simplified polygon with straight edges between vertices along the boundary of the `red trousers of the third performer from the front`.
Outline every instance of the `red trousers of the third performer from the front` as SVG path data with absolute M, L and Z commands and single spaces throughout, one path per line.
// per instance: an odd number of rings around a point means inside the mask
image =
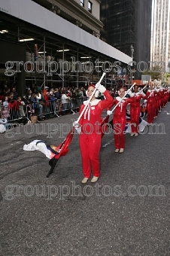
M 140 117 L 141 107 L 130 108 L 131 130 L 132 133 L 138 133 L 138 124 Z M 134 124 L 133 124 L 134 123 Z

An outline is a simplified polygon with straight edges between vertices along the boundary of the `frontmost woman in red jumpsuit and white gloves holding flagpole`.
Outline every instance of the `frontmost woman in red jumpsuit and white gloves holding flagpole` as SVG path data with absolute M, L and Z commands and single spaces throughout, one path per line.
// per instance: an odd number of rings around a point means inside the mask
M 96 182 L 100 176 L 99 166 L 99 151 L 101 148 L 101 132 L 102 132 L 102 111 L 108 108 L 113 102 L 113 98 L 108 90 L 105 89 L 102 84 L 90 84 L 87 89 L 87 97 L 90 98 L 93 91 L 96 89 L 96 93 L 90 101 L 87 109 L 84 111 L 83 116 L 80 118 L 79 123 L 75 121 L 73 126 L 80 127 L 80 153 L 83 166 L 83 184 L 87 183 L 90 179 L 91 171 L 90 166 L 93 170 L 93 178 L 91 182 Z M 105 100 L 96 99 L 99 96 L 99 92 L 103 93 Z M 87 101 L 80 105 L 80 113 L 83 108 L 87 105 Z

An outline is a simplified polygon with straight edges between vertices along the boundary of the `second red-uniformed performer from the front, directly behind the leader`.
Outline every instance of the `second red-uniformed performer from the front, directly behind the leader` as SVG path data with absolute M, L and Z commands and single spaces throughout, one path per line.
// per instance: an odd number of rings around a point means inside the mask
M 125 148 L 125 125 L 126 125 L 126 106 L 129 103 L 135 102 L 135 97 L 132 99 L 127 99 L 126 97 L 122 100 L 123 96 L 125 96 L 125 88 L 120 88 L 119 96 L 114 99 L 112 105 L 117 105 L 114 111 L 114 118 L 113 118 L 113 126 L 114 126 L 114 143 L 115 143 L 115 153 L 123 153 Z M 111 111 L 107 111 L 107 114 L 111 114 Z

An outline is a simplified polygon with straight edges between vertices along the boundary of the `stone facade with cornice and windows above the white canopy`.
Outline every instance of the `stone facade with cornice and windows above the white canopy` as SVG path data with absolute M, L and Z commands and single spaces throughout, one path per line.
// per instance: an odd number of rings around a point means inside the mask
M 100 21 L 99 0 L 34 0 L 34 2 L 90 34 L 100 37 L 103 24 Z

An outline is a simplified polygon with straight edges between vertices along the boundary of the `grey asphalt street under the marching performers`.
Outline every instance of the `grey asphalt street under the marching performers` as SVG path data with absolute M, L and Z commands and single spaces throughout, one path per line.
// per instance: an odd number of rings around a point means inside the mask
M 159 131 L 126 134 L 123 154 L 114 153 L 113 133 L 105 135 L 97 184 L 80 183 L 78 135 L 50 178 L 47 157 L 23 151 L 34 139 L 59 145 L 63 123 L 71 127 L 77 114 L 1 134 L 0 255 L 169 256 L 168 113 L 170 103 L 155 119 Z M 42 129 L 47 134 L 38 134 Z

